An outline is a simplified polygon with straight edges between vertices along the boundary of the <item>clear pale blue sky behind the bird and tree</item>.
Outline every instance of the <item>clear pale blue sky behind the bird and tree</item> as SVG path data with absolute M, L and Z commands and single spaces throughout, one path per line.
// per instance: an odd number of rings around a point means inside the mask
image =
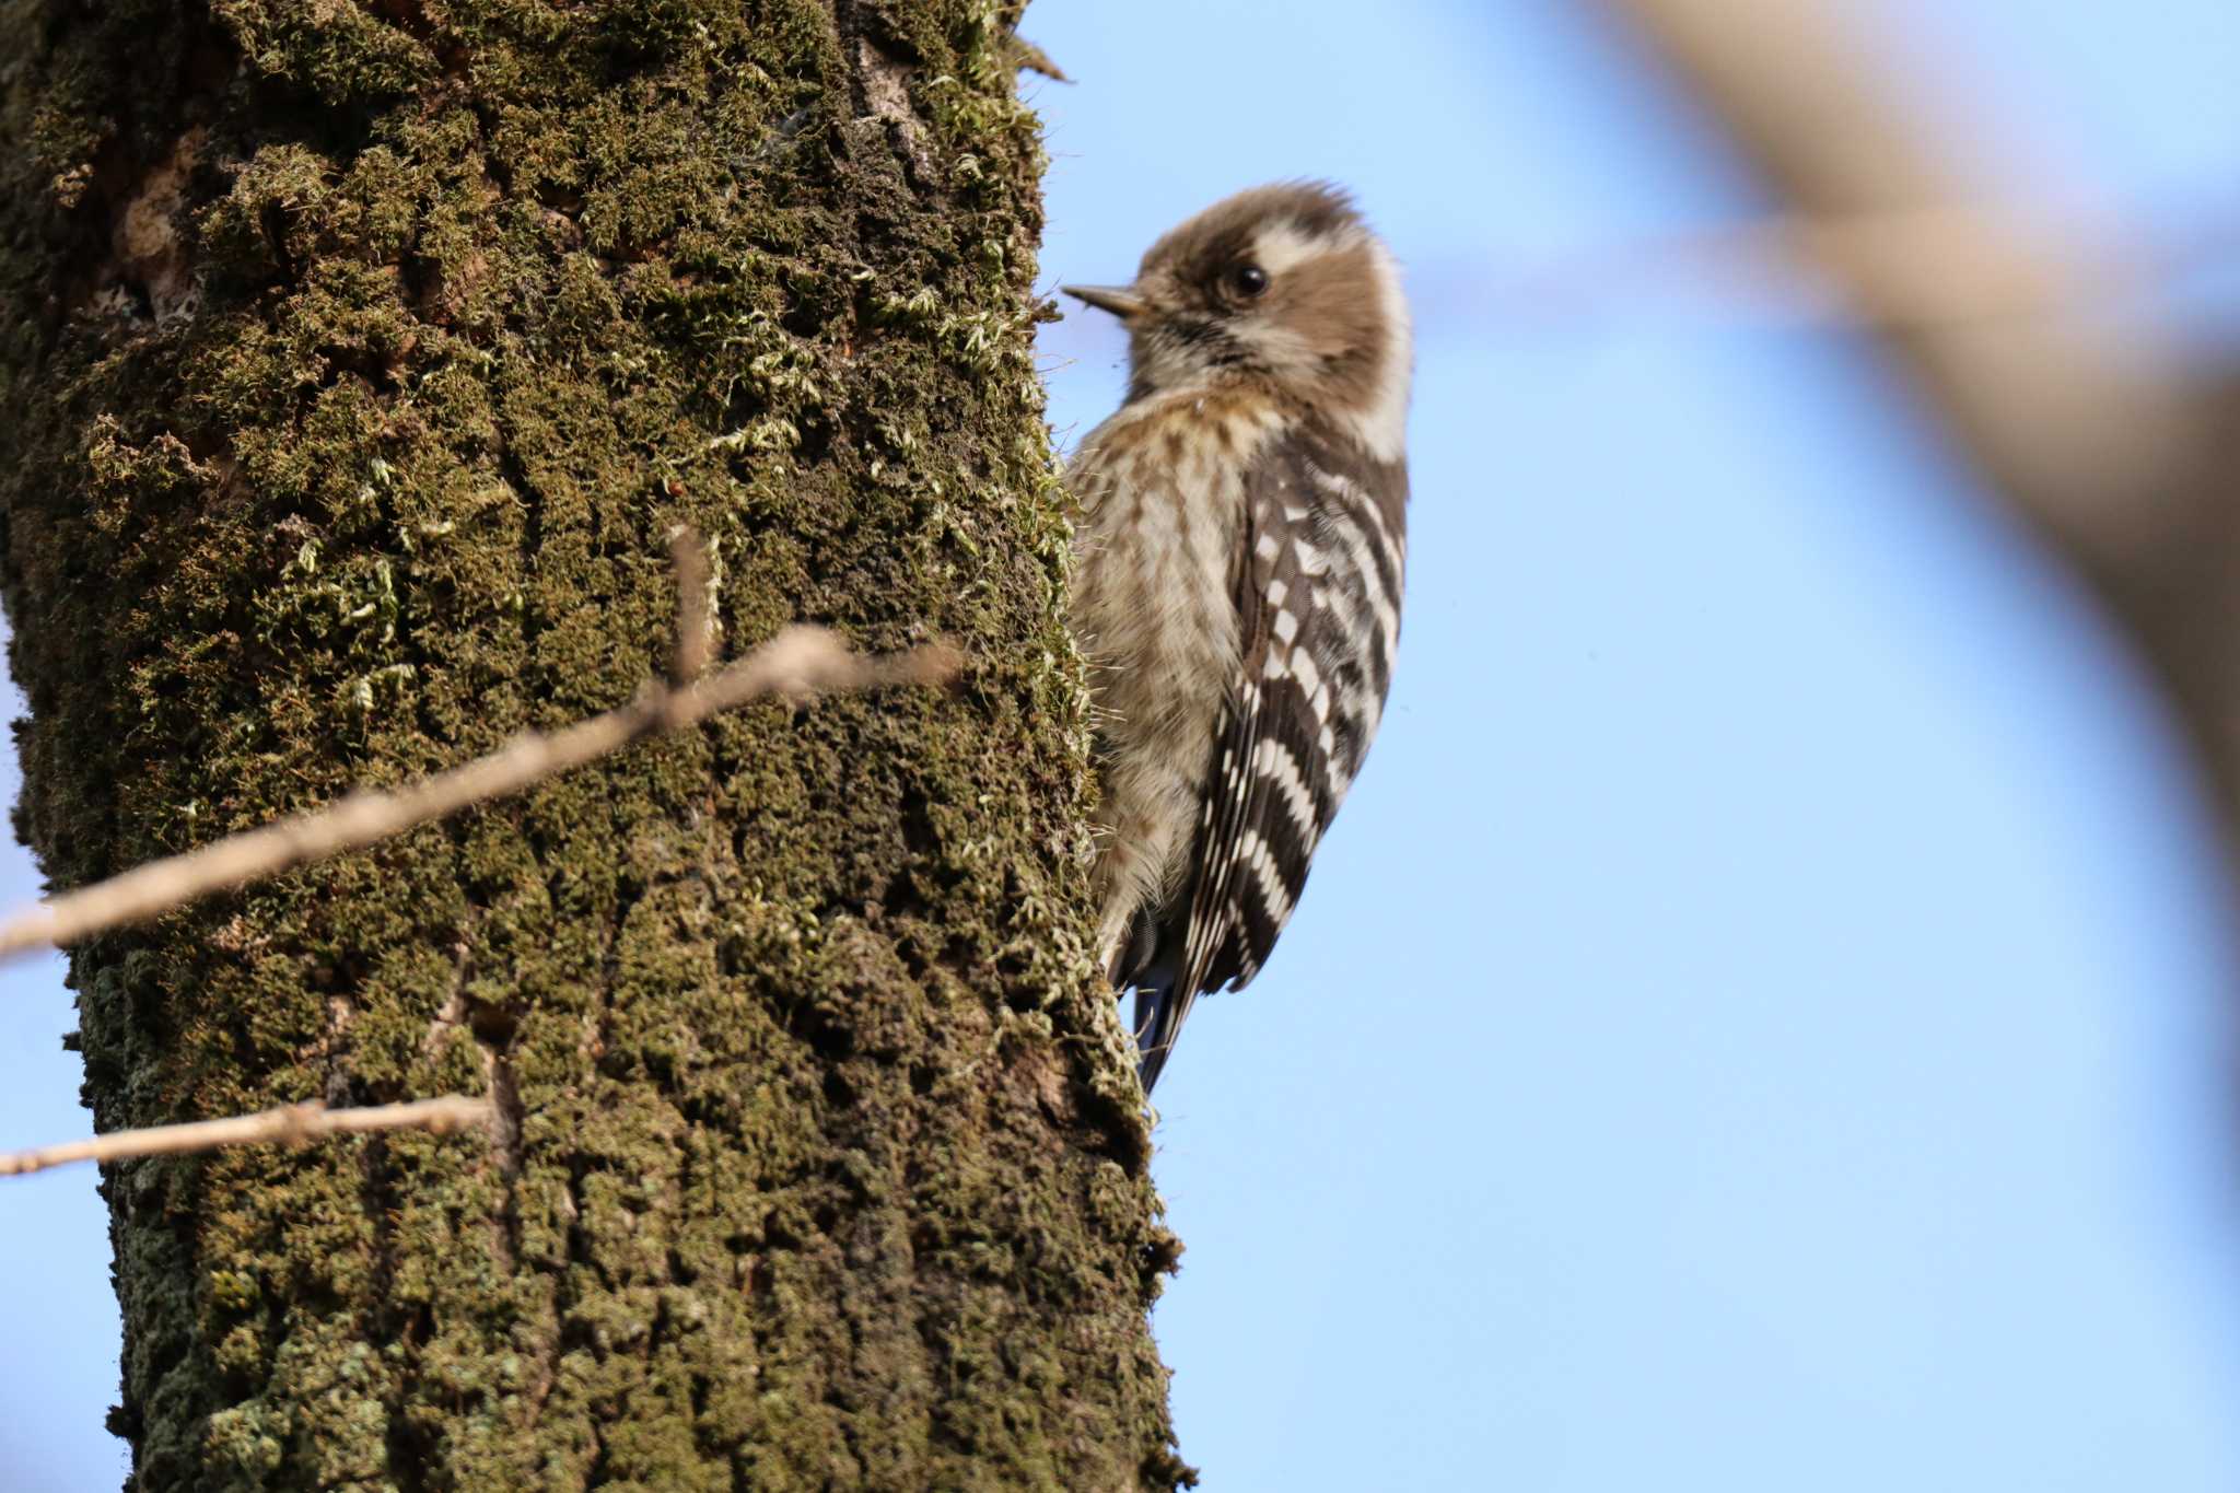
M 2153 698 L 1839 336 L 1514 291 L 1763 208 L 1593 7 L 1364 13 L 1026 27 L 1077 78 L 1030 85 L 1048 284 L 1331 177 L 1420 331 L 1384 734 L 1160 1083 L 1185 1455 L 1216 1493 L 2231 1489 L 2231 929 Z M 2016 179 L 2222 206 L 2233 7 L 1864 16 Z M 1046 329 L 1064 443 L 1120 358 Z M 56 965 L 0 985 L 0 1144 L 81 1133 Z M 105 1486 L 92 1173 L 0 1189 L 0 1278 L 40 1283 L 0 1482 Z

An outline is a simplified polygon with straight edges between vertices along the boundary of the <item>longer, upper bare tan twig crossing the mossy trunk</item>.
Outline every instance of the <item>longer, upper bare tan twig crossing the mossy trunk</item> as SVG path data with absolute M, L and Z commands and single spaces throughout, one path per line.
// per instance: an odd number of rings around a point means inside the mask
M 641 736 L 694 725 L 762 696 L 809 698 L 831 689 L 930 685 L 950 678 L 956 663 L 956 654 L 943 645 L 860 658 L 838 633 L 822 627 L 788 627 L 717 674 L 681 687 L 647 683 L 638 698 L 620 710 L 549 736 L 524 732 L 488 757 L 410 788 L 354 792 L 329 808 L 244 830 L 27 907 L 0 922 L 0 958 L 143 922 L 213 891 L 244 886 L 343 851 L 361 851 L 430 819 L 580 768 Z

